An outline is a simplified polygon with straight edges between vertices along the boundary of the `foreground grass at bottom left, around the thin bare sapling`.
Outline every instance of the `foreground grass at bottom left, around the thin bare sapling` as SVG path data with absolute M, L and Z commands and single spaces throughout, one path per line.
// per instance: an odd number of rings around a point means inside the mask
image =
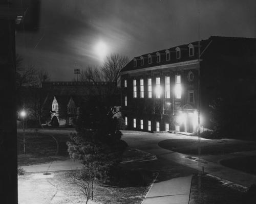
M 71 172 L 71 171 L 70 171 Z M 38 179 L 37 174 L 25 174 L 18 177 L 18 200 L 20 204 L 28 203 L 85 203 L 85 198 L 77 185 L 71 184 L 70 172 L 54 172 L 53 177 L 48 179 Z M 141 203 L 142 194 L 148 191 L 153 181 L 153 175 L 144 177 L 144 186 L 142 186 L 142 177 L 137 176 L 130 181 L 137 185 L 129 185 L 131 182 L 124 182 L 126 186 L 110 186 L 94 184 L 93 201 L 90 203 L 122 203 L 132 204 Z M 33 193 L 31 193 L 33 192 Z

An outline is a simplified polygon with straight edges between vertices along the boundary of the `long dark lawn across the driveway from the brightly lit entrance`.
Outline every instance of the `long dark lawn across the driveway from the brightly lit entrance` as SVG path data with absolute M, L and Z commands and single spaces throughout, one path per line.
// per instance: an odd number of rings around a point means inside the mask
M 199 142 L 191 139 L 167 139 L 158 143 L 162 148 L 188 155 L 198 155 Z M 231 152 L 256 150 L 256 141 L 234 139 L 200 140 L 201 155 L 222 155 Z

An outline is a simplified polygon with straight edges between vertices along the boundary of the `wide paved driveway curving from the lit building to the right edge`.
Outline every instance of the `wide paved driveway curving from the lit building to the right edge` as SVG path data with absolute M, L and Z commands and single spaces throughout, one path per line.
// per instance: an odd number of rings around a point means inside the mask
M 191 169 L 201 171 L 204 169 L 205 172 L 210 173 L 212 175 L 216 175 L 221 177 L 222 179 L 249 187 L 252 184 L 256 184 L 256 176 L 252 174 L 248 174 L 242 171 L 238 171 L 235 169 L 231 169 L 228 167 L 224 167 L 216 162 L 207 161 L 201 157 L 190 157 L 188 155 L 184 155 L 175 151 L 170 151 L 167 149 L 163 149 L 158 146 L 158 143 L 162 140 L 166 139 L 195 139 L 198 140 L 197 137 L 184 136 L 178 134 L 150 134 L 150 133 L 133 133 L 133 132 L 123 132 L 122 139 L 125 140 L 130 146 L 148 151 L 151 154 L 154 154 L 158 158 L 158 163 L 151 163 L 151 165 L 157 165 L 155 168 L 164 169 L 169 164 L 179 164 L 183 166 L 183 174 L 186 174 L 186 171 L 191 173 Z M 204 140 L 203 138 L 201 138 Z M 255 152 L 255 151 L 254 151 Z M 220 159 L 224 156 L 220 155 Z M 154 168 L 148 166 L 148 168 Z M 180 170 L 182 168 L 179 168 Z M 189 174 L 188 173 L 188 174 Z

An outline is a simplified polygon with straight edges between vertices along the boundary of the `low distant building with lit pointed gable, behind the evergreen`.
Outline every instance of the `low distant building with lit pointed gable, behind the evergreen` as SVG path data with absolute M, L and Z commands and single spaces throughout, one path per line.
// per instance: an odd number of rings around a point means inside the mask
M 45 94 L 44 115 L 42 122 L 49 124 L 54 116 L 60 126 L 70 126 L 76 123 L 81 112 L 82 104 L 91 95 L 104 94 L 109 82 L 44 82 L 42 92 Z M 120 108 L 119 96 L 116 97 L 116 107 Z M 118 112 L 116 117 L 120 117 Z

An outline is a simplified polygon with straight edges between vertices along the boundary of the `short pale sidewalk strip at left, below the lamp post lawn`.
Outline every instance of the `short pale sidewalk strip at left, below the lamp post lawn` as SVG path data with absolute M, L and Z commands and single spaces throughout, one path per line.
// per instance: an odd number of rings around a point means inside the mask
M 20 166 L 26 172 L 49 172 L 49 171 L 67 171 L 67 170 L 77 170 L 82 168 L 82 164 L 78 161 L 73 161 L 71 159 L 64 161 L 54 161 L 44 164 L 36 164 L 29 166 Z

